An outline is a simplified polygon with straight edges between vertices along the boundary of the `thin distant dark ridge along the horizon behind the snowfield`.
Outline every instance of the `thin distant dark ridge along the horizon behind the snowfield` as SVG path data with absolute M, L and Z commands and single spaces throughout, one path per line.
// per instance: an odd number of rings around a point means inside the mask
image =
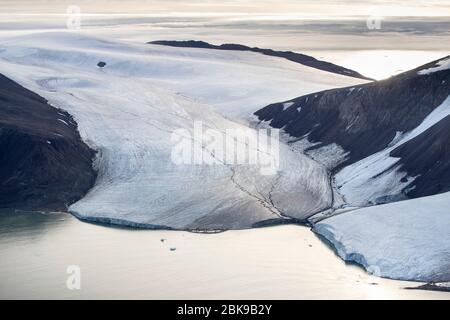
M 311 56 L 307 56 L 300 53 L 295 53 L 292 51 L 275 51 L 271 49 L 261 49 L 257 47 L 248 47 L 240 44 L 222 44 L 220 46 L 212 45 L 204 41 L 166 41 L 166 40 L 159 40 L 159 41 L 152 41 L 149 42 L 149 44 L 158 44 L 163 46 L 170 46 L 170 47 L 177 47 L 177 48 L 200 48 L 200 49 L 215 49 L 215 50 L 232 50 L 232 51 L 251 51 L 251 52 L 257 52 L 261 53 L 267 56 L 272 57 L 279 57 L 284 58 L 289 61 L 300 63 L 308 67 L 316 68 L 323 71 L 328 71 L 332 73 L 337 73 L 344 76 L 349 76 L 353 78 L 358 79 L 365 79 L 365 80 L 373 80 L 367 77 L 364 77 L 360 73 L 350 70 L 338 65 L 335 65 L 330 62 L 317 60 L 316 58 L 313 58 Z

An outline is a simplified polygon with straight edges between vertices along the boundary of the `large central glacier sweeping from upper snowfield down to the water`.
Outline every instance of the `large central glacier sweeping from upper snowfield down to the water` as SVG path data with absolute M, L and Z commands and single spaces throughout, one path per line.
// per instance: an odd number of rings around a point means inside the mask
M 106 67 L 97 68 L 99 61 Z M 326 170 L 284 144 L 278 173 L 261 175 L 254 165 L 177 165 L 172 134 L 192 132 L 195 121 L 220 132 L 247 129 L 227 118 L 245 120 L 280 98 L 360 81 L 253 53 L 72 32 L 3 41 L 0 70 L 72 114 L 82 138 L 98 151 L 96 185 L 71 212 L 91 221 L 173 229 L 242 229 L 328 208 Z M 192 143 L 211 156 L 204 141 Z

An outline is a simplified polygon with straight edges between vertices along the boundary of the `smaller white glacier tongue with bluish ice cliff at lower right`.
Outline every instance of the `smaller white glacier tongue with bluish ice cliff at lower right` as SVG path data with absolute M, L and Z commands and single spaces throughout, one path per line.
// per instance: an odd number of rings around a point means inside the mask
M 318 223 L 345 260 L 379 276 L 450 280 L 450 193 L 360 209 Z

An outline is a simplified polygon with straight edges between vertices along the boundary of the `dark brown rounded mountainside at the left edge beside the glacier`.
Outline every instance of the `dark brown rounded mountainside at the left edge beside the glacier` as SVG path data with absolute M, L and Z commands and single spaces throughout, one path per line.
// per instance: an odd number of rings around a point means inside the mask
M 93 186 L 72 117 L 0 75 L 0 208 L 65 210 Z

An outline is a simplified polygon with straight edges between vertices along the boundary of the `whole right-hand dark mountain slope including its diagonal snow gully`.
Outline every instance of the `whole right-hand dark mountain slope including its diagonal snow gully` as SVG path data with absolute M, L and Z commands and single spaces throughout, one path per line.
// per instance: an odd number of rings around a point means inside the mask
M 436 173 L 444 172 L 450 162 L 445 124 L 430 128 L 448 115 L 450 70 L 421 74 L 439 62 L 388 80 L 272 104 L 256 115 L 298 140 L 307 139 L 307 153 L 320 154 L 331 145 L 341 148 L 340 161 L 330 169 L 337 173 L 337 184 L 350 204 L 446 192 L 447 175 L 427 172 L 435 162 L 440 168 Z M 437 134 L 440 142 L 427 143 Z M 410 162 L 416 143 L 401 145 L 418 135 L 420 153 L 430 157 Z

